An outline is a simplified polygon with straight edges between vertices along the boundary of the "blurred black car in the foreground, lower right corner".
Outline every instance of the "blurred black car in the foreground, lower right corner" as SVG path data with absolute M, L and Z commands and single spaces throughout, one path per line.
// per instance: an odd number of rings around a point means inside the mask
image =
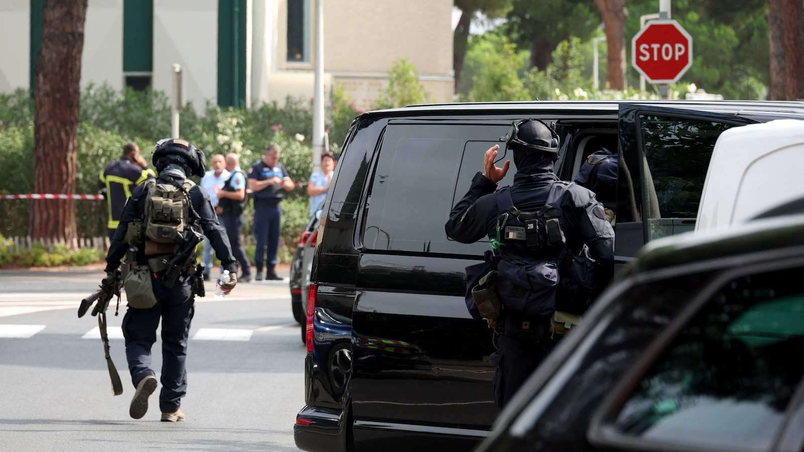
M 802 274 L 802 215 L 646 245 L 477 450 L 804 450 Z

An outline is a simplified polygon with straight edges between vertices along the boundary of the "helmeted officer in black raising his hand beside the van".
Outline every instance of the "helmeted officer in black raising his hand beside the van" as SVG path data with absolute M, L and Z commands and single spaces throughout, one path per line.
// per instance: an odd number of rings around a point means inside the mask
M 559 137 L 552 125 L 534 118 L 514 121 L 500 140 L 514 152 L 513 185 L 497 190 L 511 162 L 496 166 L 499 146 L 491 146 L 485 172 L 478 171 L 455 204 L 445 231 L 461 243 L 490 238 L 493 253 L 487 253 L 483 268 L 493 271 L 476 275 L 488 277 L 471 287 L 479 278 L 467 268 L 467 306 L 499 333 L 492 361 L 497 362 L 494 400 L 502 407 L 564 334 L 564 326 L 580 322 L 589 299 L 609 281 L 614 232 L 593 192 L 553 173 Z M 586 266 L 583 272 L 573 271 L 578 265 Z M 584 273 L 594 277 L 573 279 Z M 475 295 L 490 293 L 489 306 L 495 308 L 478 311 L 473 289 Z

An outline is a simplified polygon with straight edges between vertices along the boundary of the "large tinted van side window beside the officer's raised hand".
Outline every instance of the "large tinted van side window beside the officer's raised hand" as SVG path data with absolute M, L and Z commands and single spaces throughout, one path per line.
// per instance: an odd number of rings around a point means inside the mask
M 363 247 L 482 255 L 487 243 L 449 240 L 449 211 L 482 171 L 509 125 L 391 124 L 385 130 L 363 222 Z M 500 154 L 502 156 L 502 154 Z M 509 151 L 507 159 L 513 160 Z M 511 169 L 502 185 L 513 182 Z

